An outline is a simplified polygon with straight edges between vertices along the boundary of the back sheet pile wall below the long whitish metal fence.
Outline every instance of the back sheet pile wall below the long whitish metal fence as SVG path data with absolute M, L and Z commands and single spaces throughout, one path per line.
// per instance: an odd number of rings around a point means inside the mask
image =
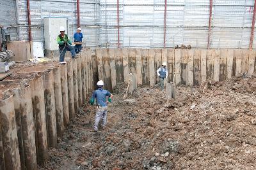
M 118 82 L 128 82 L 127 76 L 136 76 L 138 85 L 153 86 L 159 82 L 156 70 L 167 62 L 168 82 L 182 85 L 205 85 L 207 80 L 224 81 L 241 73 L 256 72 L 256 52 L 253 50 L 183 50 L 173 48 L 106 48 L 97 49 L 99 80 L 109 82 L 112 90 Z

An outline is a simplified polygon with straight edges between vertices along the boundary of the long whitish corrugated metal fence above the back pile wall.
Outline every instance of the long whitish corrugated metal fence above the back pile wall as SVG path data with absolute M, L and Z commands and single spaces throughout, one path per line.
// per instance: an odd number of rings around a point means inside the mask
M 166 46 L 207 47 L 209 2 L 167 1 Z M 210 47 L 248 48 L 253 5 L 253 0 L 214 0 Z M 116 16 L 116 0 L 100 0 L 101 46 L 117 46 Z M 163 47 L 163 34 L 164 0 L 120 0 L 121 46 Z

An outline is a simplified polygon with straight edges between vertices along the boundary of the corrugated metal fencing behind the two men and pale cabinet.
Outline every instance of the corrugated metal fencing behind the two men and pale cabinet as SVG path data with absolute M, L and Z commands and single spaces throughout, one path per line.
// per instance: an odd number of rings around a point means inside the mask
M 19 1 L 19 24 L 21 39 L 28 39 L 28 17 L 26 0 Z M 81 28 L 86 46 L 97 46 L 97 15 L 99 6 L 97 0 L 80 0 Z M 44 43 L 45 17 L 65 17 L 70 28 L 68 35 L 73 38 L 77 29 L 76 1 L 74 0 L 30 0 L 32 39 Z

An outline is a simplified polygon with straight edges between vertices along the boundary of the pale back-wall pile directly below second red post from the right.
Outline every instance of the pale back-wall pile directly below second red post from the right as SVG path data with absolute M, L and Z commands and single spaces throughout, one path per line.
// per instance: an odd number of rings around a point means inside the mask
M 206 79 L 214 79 L 214 50 L 207 50 L 206 52 Z

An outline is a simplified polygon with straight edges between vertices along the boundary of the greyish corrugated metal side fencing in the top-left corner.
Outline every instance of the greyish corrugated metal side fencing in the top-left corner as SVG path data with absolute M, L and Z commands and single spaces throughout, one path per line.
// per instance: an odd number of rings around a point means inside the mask
M 8 27 L 10 31 L 11 40 L 18 40 L 18 31 L 17 27 L 13 27 L 11 25 L 17 25 L 16 20 L 16 8 L 15 8 L 15 0 L 2 0 L 0 1 L 0 25 Z M 1 35 L 1 31 L 0 31 Z

